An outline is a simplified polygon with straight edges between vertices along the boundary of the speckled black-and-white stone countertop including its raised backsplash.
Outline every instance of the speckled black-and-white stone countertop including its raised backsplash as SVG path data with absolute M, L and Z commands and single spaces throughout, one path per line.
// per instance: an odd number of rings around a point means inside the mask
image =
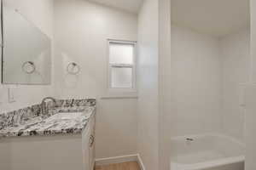
M 96 99 L 57 100 L 54 106 L 46 105 L 47 115 L 40 108 L 32 105 L 1 114 L 0 138 L 81 133 L 95 114 Z

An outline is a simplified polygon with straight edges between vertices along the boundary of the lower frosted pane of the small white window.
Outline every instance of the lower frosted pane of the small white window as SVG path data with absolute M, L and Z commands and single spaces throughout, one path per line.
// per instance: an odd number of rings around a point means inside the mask
M 112 67 L 111 88 L 132 88 L 132 68 Z

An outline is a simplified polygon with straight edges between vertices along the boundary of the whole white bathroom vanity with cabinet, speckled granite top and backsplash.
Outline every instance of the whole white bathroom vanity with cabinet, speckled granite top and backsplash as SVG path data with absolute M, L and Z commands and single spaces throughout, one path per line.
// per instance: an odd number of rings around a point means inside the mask
M 93 170 L 95 99 L 57 100 L 0 116 L 0 165 L 4 170 Z

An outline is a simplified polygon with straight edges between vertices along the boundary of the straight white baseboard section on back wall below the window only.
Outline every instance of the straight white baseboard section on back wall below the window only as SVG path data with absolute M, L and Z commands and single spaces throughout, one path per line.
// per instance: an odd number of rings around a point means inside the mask
M 109 165 L 113 163 L 123 163 L 127 161 L 137 161 L 137 155 L 115 156 L 115 157 L 96 159 L 96 166 Z

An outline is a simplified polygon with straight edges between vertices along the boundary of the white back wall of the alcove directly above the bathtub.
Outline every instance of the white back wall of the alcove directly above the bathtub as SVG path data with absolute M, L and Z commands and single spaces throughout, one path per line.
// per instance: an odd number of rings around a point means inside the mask
M 220 132 L 218 39 L 172 25 L 172 136 Z

